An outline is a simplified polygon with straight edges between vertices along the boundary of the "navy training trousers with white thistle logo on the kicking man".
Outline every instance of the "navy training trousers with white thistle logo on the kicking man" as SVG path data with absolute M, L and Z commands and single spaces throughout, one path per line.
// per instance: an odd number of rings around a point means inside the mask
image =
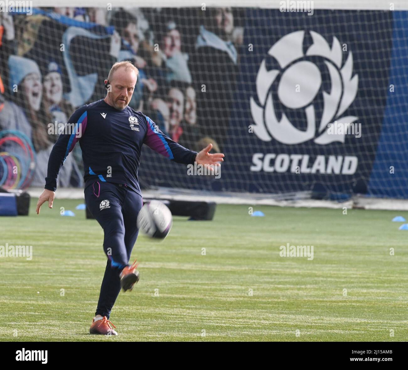
M 109 319 L 120 292 L 119 274 L 129 265 L 137 234 L 142 196 L 124 184 L 95 181 L 84 190 L 85 203 L 104 230 L 103 249 L 108 257 L 95 315 Z

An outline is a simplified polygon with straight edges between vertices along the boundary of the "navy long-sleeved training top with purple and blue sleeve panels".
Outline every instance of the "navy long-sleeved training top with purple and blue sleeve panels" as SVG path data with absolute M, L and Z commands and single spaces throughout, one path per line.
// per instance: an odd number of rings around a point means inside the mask
M 197 155 L 164 135 L 142 112 L 129 106 L 120 111 L 103 99 L 78 108 L 68 123 L 71 128 L 75 124 L 75 130 L 62 133 L 53 146 L 45 178 L 48 190 L 56 190 L 60 168 L 78 141 L 85 188 L 95 181 L 106 181 L 126 184 L 140 195 L 137 170 L 142 144 L 177 163 L 193 164 Z

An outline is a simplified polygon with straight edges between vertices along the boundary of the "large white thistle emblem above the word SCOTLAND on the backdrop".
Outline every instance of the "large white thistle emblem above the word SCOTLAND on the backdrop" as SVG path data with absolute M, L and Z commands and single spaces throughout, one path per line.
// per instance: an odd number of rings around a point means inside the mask
M 358 75 L 353 75 L 353 55 L 342 66 L 342 49 L 339 40 L 333 37 L 330 48 L 328 42 L 319 33 L 310 31 L 313 44 L 303 52 L 305 31 L 289 33 L 277 41 L 268 51 L 279 63 L 279 69 L 266 69 L 266 59 L 259 67 L 256 77 L 256 91 L 259 104 L 251 97 L 251 113 L 255 125 L 253 132 L 260 140 L 271 141 L 272 138 L 283 144 L 299 144 L 312 140 L 316 144 L 331 142 L 344 143 L 344 133 L 333 134 L 330 126 L 335 121 L 347 127 L 357 120 L 354 116 L 343 116 L 357 94 Z M 323 58 L 330 75 L 330 91 L 322 92 L 323 111 L 317 128 L 315 102 L 322 88 L 322 73 L 315 63 L 307 57 Z M 275 113 L 272 99 L 273 82 L 280 78 L 277 85 L 277 96 L 284 110 L 280 120 Z M 275 84 L 276 85 L 276 84 Z M 301 86 L 295 92 L 295 86 Z M 295 127 L 286 110 L 304 110 L 307 122 L 306 130 Z

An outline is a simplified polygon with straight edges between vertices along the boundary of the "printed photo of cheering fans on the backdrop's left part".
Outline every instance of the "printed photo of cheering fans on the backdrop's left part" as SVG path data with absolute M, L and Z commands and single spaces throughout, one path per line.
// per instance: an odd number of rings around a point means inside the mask
M 240 18 L 228 8 L 0 13 L 0 186 L 44 186 L 61 127 L 75 109 L 106 96 L 103 81 L 122 60 L 140 71 L 131 108 L 187 148 L 211 142 L 222 151 L 243 41 Z M 146 151 L 144 166 L 151 169 L 155 153 Z M 160 170 L 172 168 L 161 166 L 157 181 Z M 58 187 L 83 186 L 83 171 L 76 145 Z

